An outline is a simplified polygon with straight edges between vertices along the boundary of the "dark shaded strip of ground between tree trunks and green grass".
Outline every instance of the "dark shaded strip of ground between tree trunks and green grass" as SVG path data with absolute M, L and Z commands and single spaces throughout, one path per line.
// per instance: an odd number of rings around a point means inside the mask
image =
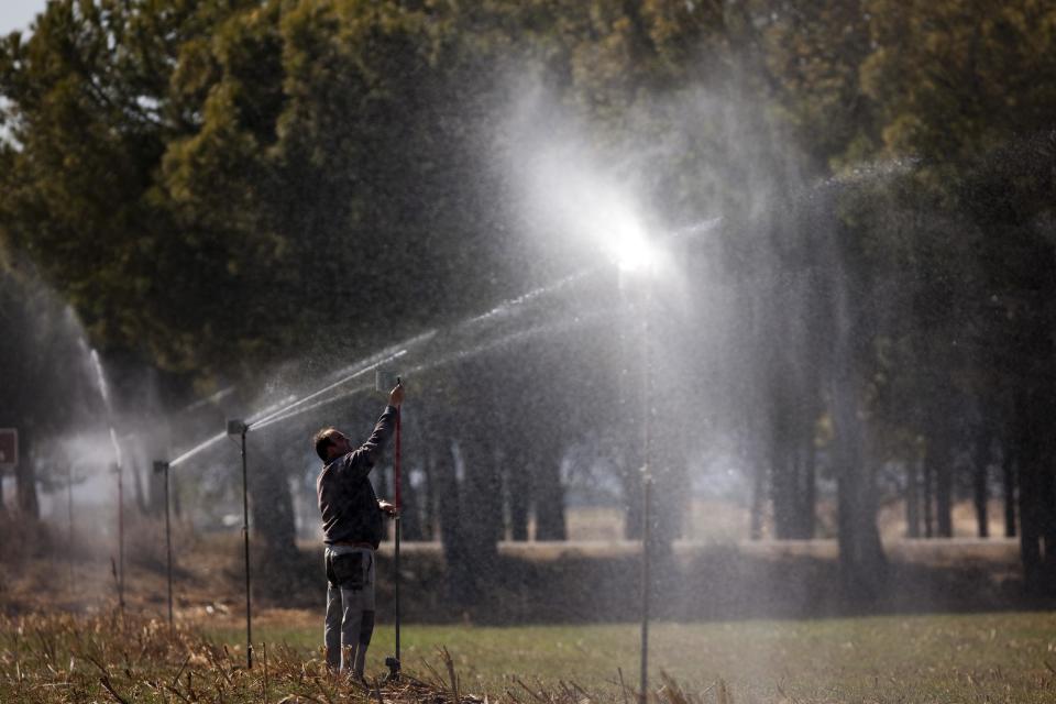
M 821 542 L 821 541 L 815 541 Z M 821 552 L 821 554 L 818 554 Z M 1048 608 L 1056 600 L 1025 595 L 1014 560 L 998 551 L 947 547 L 942 559 L 919 549 L 889 551 L 887 584 L 877 598 L 840 588 L 835 553 L 825 550 L 702 546 L 658 559 L 651 612 L 674 622 L 818 618 L 851 615 L 993 612 Z M 1010 553 L 1013 554 L 1014 553 Z M 321 550 L 300 550 L 284 576 L 258 576 L 260 597 L 283 607 L 318 608 L 326 581 Z M 528 551 L 501 553 L 474 565 L 479 598 L 453 602 L 440 550 L 416 550 L 403 560 L 402 610 L 408 622 L 488 625 L 626 623 L 640 614 L 640 559 L 634 552 L 558 550 L 544 559 Z M 231 573 L 234 579 L 238 571 Z M 393 563 L 378 554 L 378 610 L 392 613 Z

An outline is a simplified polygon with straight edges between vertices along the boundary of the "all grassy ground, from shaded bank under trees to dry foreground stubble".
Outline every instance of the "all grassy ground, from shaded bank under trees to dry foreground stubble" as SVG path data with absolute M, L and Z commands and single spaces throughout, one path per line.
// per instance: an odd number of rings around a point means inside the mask
M 438 588 L 439 549 L 408 550 L 404 604 L 414 608 L 404 613 L 418 623 L 404 629 L 403 659 L 405 671 L 430 684 L 385 690 L 381 704 L 454 704 L 452 670 L 459 704 L 483 703 L 483 696 L 468 700 L 468 692 L 487 694 L 488 703 L 631 704 L 618 672 L 628 688 L 638 686 L 639 631 L 618 622 L 637 613 L 636 590 L 620 582 L 636 573 L 636 548 L 505 546 L 505 572 L 496 573 L 484 607 L 469 612 L 446 603 Z M 822 617 L 860 613 L 832 608 L 832 541 L 675 548 L 679 588 L 654 600 L 654 613 L 667 620 L 651 631 L 652 704 L 729 704 L 727 685 L 738 703 L 1056 703 L 1056 610 L 1016 590 L 1012 541 L 888 546 L 891 583 L 901 590 L 878 603 L 875 613 L 888 615 L 846 618 Z M 45 553 L 0 564 L 0 614 L 7 614 L 0 616 L 0 704 L 378 704 L 377 692 L 327 678 L 319 653 L 321 579 L 311 550 L 304 554 L 304 584 L 254 600 L 258 666 L 252 671 L 242 667 L 241 543 L 188 542 L 175 585 L 175 634 L 157 620 L 165 606 L 163 563 L 146 559 L 148 551 L 131 554 L 124 617 L 112 608 L 105 556 L 67 563 Z M 387 596 L 381 588 L 383 616 L 392 613 Z M 960 613 L 891 615 L 920 609 Z M 790 613 L 798 618 L 777 618 Z M 674 623 L 672 614 L 684 622 Z M 526 622 L 565 625 L 519 625 Z M 388 625 L 376 630 L 372 674 L 383 673 L 392 637 Z M 678 689 L 666 685 L 661 672 Z

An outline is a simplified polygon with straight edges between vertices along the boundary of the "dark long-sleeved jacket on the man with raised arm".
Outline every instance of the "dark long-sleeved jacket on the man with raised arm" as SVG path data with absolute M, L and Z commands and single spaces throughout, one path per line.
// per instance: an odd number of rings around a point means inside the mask
M 334 458 L 319 472 L 316 494 L 327 544 L 361 542 L 370 543 L 376 550 L 381 543 L 385 524 L 370 474 L 395 428 L 396 408 L 387 406 L 366 442 Z

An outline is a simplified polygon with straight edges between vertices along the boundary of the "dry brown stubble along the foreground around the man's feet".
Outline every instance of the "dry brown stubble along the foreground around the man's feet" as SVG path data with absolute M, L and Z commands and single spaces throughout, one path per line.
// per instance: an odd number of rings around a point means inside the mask
M 111 612 L 77 617 L 32 615 L 0 620 L 0 701 L 45 702 L 184 702 L 268 704 L 591 704 L 613 701 L 575 682 L 543 688 L 516 679 L 503 692 L 470 694 L 446 648 L 439 666 L 405 672 L 397 682 L 351 682 L 328 672 L 319 657 L 286 646 L 256 651 L 255 667 L 245 667 L 239 647 L 210 641 L 199 631 L 157 619 Z M 715 685 L 717 701 L 728 702 L 725 683 Z M 713 688 L 714 689 L 714 688 Z M 723 698 L 726 696 L 727 698 Z M 702 704 L 670 678 L 650 695 L 656 704 Z M 637 701 L 630 688 L 617 701 Z

